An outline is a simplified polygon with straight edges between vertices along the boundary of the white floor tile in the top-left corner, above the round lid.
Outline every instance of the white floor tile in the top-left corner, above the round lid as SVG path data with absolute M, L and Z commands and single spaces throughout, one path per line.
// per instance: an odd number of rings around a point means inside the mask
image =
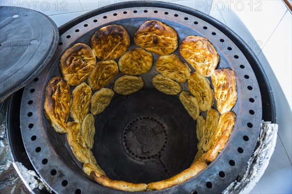
M 1 0 L 0 5 L 29 8 L 46 15 L 83 11 L 79 0 Z

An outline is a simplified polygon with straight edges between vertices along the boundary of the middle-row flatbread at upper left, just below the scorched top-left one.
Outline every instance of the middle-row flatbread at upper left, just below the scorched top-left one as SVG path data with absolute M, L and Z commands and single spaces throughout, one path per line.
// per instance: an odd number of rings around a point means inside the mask
M 119 68 L 114 60 L 98 61 L 87 82 L 92 90 L 105 87 L 118 74 Z

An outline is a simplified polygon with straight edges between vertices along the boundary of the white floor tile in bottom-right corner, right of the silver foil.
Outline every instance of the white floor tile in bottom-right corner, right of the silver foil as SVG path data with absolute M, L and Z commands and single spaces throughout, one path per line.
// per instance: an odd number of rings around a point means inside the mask
M 279 138 L 270 164 L 257 186 L 261 194 L 292 193 L 292 165 Z

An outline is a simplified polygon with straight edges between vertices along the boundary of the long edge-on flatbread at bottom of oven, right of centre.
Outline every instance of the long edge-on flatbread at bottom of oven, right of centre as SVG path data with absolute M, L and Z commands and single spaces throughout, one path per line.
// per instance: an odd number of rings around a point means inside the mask
M 168 187 L 178 185 L 200 173 L 204 170 L 208 165 L 205 162 L 195 162 L 193 163 L 188 169 L 184 170 L 183 172 L 171 176 L 170 178 L 158 182 L 151 182 L 147 185 L 147 191 L 152 190 L 161 190 L 166 189 Z

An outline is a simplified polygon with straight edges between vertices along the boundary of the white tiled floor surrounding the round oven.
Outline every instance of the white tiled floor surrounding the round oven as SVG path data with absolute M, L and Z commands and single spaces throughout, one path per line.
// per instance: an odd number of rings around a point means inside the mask
M 35 9 L 52 18 L 57 26 L 61 26 L 87 11 L 120 1 L 127 0 L 0 0 L 0 5 Z M 274 91 L 279 131 L 270 165 L 251 193 L 292 193 L 291 12 L 282 0 L 164 1 L 178 3 L 210 14 L 235 31 L 256 53 Z

